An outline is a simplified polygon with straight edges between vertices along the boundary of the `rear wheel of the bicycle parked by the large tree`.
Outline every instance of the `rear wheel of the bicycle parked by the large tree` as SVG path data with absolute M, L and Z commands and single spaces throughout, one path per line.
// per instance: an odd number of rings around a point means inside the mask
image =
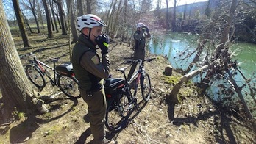
M 57 85 L 60 87 L 60 90 L 69 98 L 81 97 L 78 81 L 74 77 L 60 74 L 57 76 Z

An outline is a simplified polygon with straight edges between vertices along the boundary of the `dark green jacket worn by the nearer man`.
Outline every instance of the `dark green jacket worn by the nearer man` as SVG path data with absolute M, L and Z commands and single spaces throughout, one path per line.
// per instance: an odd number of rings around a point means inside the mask
M 103 79 L 109 76 L 110 60 L 108 54 L 102 55 L 102 62 L 96 53 L 96 46 L 81 34 L 75 44 L 71 62 L 75 77 L 79 81 L 79 87 L 82 90 L 100 90 Z

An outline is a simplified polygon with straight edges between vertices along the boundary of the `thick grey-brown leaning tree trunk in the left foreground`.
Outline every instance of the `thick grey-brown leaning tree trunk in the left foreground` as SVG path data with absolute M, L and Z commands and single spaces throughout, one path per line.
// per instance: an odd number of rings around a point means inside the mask
M 16 107 L 20 112 L 33 112 L 41 104 L 40 111 L 47 112 L 42 101 L 38 101 L 32 86 L 26 77 L 18 52 L 15 48 L 10 28 L 4 15 L 3 4 L 0 1 L 0 85 L 4 110 L 4 119 L 10 116 Z

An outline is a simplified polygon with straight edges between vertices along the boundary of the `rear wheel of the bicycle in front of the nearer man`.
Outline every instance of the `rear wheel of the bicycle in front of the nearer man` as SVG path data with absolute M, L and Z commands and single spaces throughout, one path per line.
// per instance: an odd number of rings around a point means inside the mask
M 122 91 L 115 98 L 107 99 L 105 126 L 111 132 L 118 132 L 127 125 L 133 105 L 129 93 Z

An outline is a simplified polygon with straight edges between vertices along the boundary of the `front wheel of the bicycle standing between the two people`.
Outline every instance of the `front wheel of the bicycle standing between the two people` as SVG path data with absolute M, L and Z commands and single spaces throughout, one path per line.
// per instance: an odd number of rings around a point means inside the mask
M 151 96 L 151 82 L 148 73 L 141 75 L 141 95 L 144 101 L 149 101 Z

